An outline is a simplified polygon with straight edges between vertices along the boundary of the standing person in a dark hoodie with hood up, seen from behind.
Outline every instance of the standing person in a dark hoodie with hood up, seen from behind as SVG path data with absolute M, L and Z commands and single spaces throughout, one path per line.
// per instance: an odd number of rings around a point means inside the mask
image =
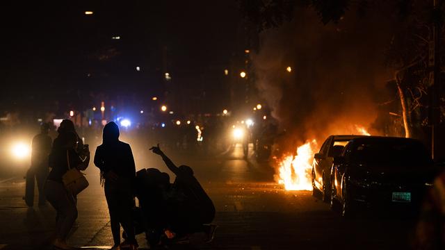
M 134 206 L 132 183 L 136 177 L 131 147 L 119 140 L 119 127 L 114 122 L 104 126 L 103 141 L 96 149 L 94 163 L 101 172 L 101 184 L 104 185 L 106 202 L 111 220 L 113 249 L 137 249 L 131 215 Z M 127 239 L 120 243 L 120 225 L 127 234 Z

